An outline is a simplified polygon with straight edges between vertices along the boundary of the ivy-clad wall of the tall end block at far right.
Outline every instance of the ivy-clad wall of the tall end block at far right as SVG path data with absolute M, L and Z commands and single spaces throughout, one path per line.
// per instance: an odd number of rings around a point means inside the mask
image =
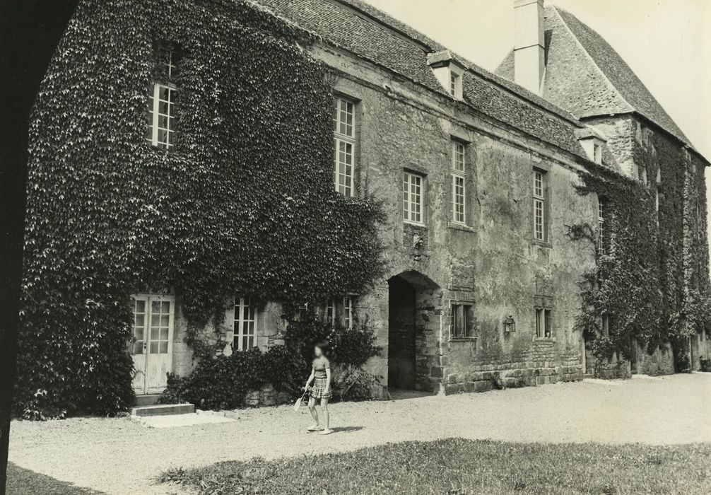
M 707 349 L 697 349 L 690 362 L 690 338 L 696 341 L 711 322 L 705 163 L 638 117 L 590 123 L 610 138 L 626 178 L 602 168 L 583 176 L 580 192 L 604 201 L 606 253 L 598 253 L 597 269 L 587 274 L 580 324 L 603 361 L 613 355 L 650 361 L 636 355 L 635 342 L 649 356 L 667 354 L 668 342 L 676 371 L 697 368 Z M 603 313 L 610 316 L 608 337 L 600 328 Z

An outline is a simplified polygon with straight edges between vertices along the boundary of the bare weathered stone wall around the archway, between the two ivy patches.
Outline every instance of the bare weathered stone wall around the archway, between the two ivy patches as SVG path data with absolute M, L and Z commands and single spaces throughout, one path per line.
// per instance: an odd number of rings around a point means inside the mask
M 484 390 L 496 380 L 521 386 L 582 378 L 574 319 L 578 282 L 594 265 L 594 249 L 568 239 L 566 232 L 567 225 L 593 223 L 596 210 L 594 198 L 574 191 L 578 179 L 570 157 L 512 129 L 493 129 L 454 102 L 437 102 L 439 113 L 430 93 L 375 70 L 373 85 L 355 80 L 369 74 L 358 61 L 319 56 L 353 74 L 336 80 L 336 92 L 358 101 L 360 190 L 380 198 L 387 213 L 381 233 L 387 275 L 357 304 L 384 347 L 369 370 L 387 376 L 387 280 L 413 272 L 431 282 L 411 280 L 417 288 L 417 388 L 454 392 Z M 469 143 L 466 225 L 451 222 L 453 137 Z M 546 243 L 533 242 L 534 167 L 547 172 Z M 427 225 L 402 219 L 403 169 L 426 177 Z M 415 238 L 422 239 L 421 248 L 414 247 Z M 474 304 L 471 338 L 451 338 L 452 302 Z M 534 307 L 542 302 L 552 310 L 552 339 L 534 338 Z M 517 329 L 505 334 L 509 315 Z

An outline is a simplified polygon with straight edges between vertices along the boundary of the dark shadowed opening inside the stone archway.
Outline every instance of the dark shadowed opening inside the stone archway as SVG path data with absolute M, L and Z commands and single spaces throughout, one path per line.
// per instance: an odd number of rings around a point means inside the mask
M 387 385 L 415 389 L 415 288 L 392 277 L 388 281 Z

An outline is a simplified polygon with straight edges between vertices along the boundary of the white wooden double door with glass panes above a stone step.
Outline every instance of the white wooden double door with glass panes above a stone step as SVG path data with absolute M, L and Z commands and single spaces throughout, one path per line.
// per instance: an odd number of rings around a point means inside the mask
M 173 364 L 175 298 L 137 294 L 132 303 L 135 341 L 131 353 L 136 368 L 133 388 L 138 395 L 161 393 Z

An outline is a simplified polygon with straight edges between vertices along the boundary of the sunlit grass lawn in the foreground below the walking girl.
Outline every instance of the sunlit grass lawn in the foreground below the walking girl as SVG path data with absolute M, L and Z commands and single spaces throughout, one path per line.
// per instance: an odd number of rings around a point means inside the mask
M 318 442 L 318 438 L 314 442 Z M 710 494 L 711 444 L 518 444 L 452 438 L 173 469 L 201 494 Z

